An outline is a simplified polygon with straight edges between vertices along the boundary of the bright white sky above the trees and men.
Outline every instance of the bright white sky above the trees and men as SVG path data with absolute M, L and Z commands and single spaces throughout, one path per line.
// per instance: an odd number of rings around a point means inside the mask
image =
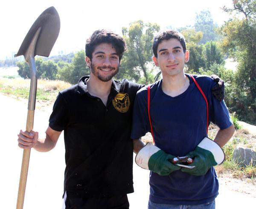
M 52 55 L 84 49 L 85 40 L 96 29 L 111 29 L 122 35 L 122 27 L 135 20 L 157 23 L 161 29 L 193 25 L 196 13 L 209 10 L 219 26 L 230 17 L 220 7 L 232 0 L 2 0 L 0 3 L 0 59 L 11 58 L 37 17 L 54 6 L 61 20 Z

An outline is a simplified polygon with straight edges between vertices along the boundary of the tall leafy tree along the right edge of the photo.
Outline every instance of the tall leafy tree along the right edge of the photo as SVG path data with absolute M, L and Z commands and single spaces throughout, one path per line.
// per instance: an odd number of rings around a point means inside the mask
M 225 12 L 236 14 L 221 26 L 222 47 L 238 61 L 232 105 L 244 120 L 256 121 L 256 0 L 233 0 L 233 8 Z M 237 14 L 239 16 L 237 16 Z

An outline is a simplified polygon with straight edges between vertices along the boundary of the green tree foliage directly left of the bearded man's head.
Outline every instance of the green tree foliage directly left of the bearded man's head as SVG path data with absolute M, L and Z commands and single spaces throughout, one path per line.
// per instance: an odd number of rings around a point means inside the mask
M 85 63 L 85 52 L 81 50 L 76 52 L 71 63 L 58 62 L 58 79 L 76 84 L 84 75 L 89 75 L 89 69 Z

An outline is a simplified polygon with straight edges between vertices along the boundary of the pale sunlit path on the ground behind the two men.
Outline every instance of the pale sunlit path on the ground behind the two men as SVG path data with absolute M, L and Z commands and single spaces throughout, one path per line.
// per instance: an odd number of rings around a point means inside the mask
M 20 175 L 22 150 L 17 147 L 17 134 L 20 128 L 26 127 L 27 100 L 17 99 L 0 93 L 1 130 L 3 149 L 0 152 L 2 172 L 0 172 L 0 196 L 5 200 L 3 208 L 15 208 Z M 36 102 L 34 129 L 44 133 L 52 103 Z M 64 180 L 64 140 L 61 134 L 56 147 L 47 153 L 31 151 L 29 175 L 26 186 L 24 208 L 58 209 L 62 204 Z M 149 172 L 134 163 L 134 190 L 128 194 L 130 209 L 147 207 Z M 249 208 L 243 207 L 243 201 L 249 205 L 256 202 L 256 186 L 245 180 L 230 177 L 220 178 L 220 191 L 216 199 L 216 208 Z M 44 201 L 47 199 L 47 201 Z M 14 201 L 15 200 L 15 201 Z M 140 201 L 138 201 L 140 200 Z M 232 202 L 233 206 L 230 205 Z M 241 202 L 241 204 L 240 204 Z M 49 207 L 49 203 L 51 207 Z

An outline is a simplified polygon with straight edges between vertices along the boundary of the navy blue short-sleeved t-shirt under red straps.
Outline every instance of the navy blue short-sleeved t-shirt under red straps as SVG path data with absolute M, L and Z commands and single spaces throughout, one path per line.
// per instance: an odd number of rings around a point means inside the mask
M 212 96 L 211 89 L 216 84 L 212 78 L 193 75 L 207 98 L 209 122 L 220 129 L 232 125 L 224 101 Z M 189 76 L 188 76 L 189 77 Z M 207 136 L 207 106 L 204 97 L 189 77 L 188 89 L 175 97 L 163 93 L 162 80 L 151 84 L 150 116 L 154 131 L 155 145 L 174 156 L 186 156 Z M 139 139 L 150 132 L 147 110 L 147 88 L 137 92 L 134 102 L 131 138 Z M 150 172 L 150 196 L 155 203 L 202 204 L 218 195 L 218 179 L 212 167 L 203 176 L 193 176 L 182 171 L 174 171 L 169 176 Z

